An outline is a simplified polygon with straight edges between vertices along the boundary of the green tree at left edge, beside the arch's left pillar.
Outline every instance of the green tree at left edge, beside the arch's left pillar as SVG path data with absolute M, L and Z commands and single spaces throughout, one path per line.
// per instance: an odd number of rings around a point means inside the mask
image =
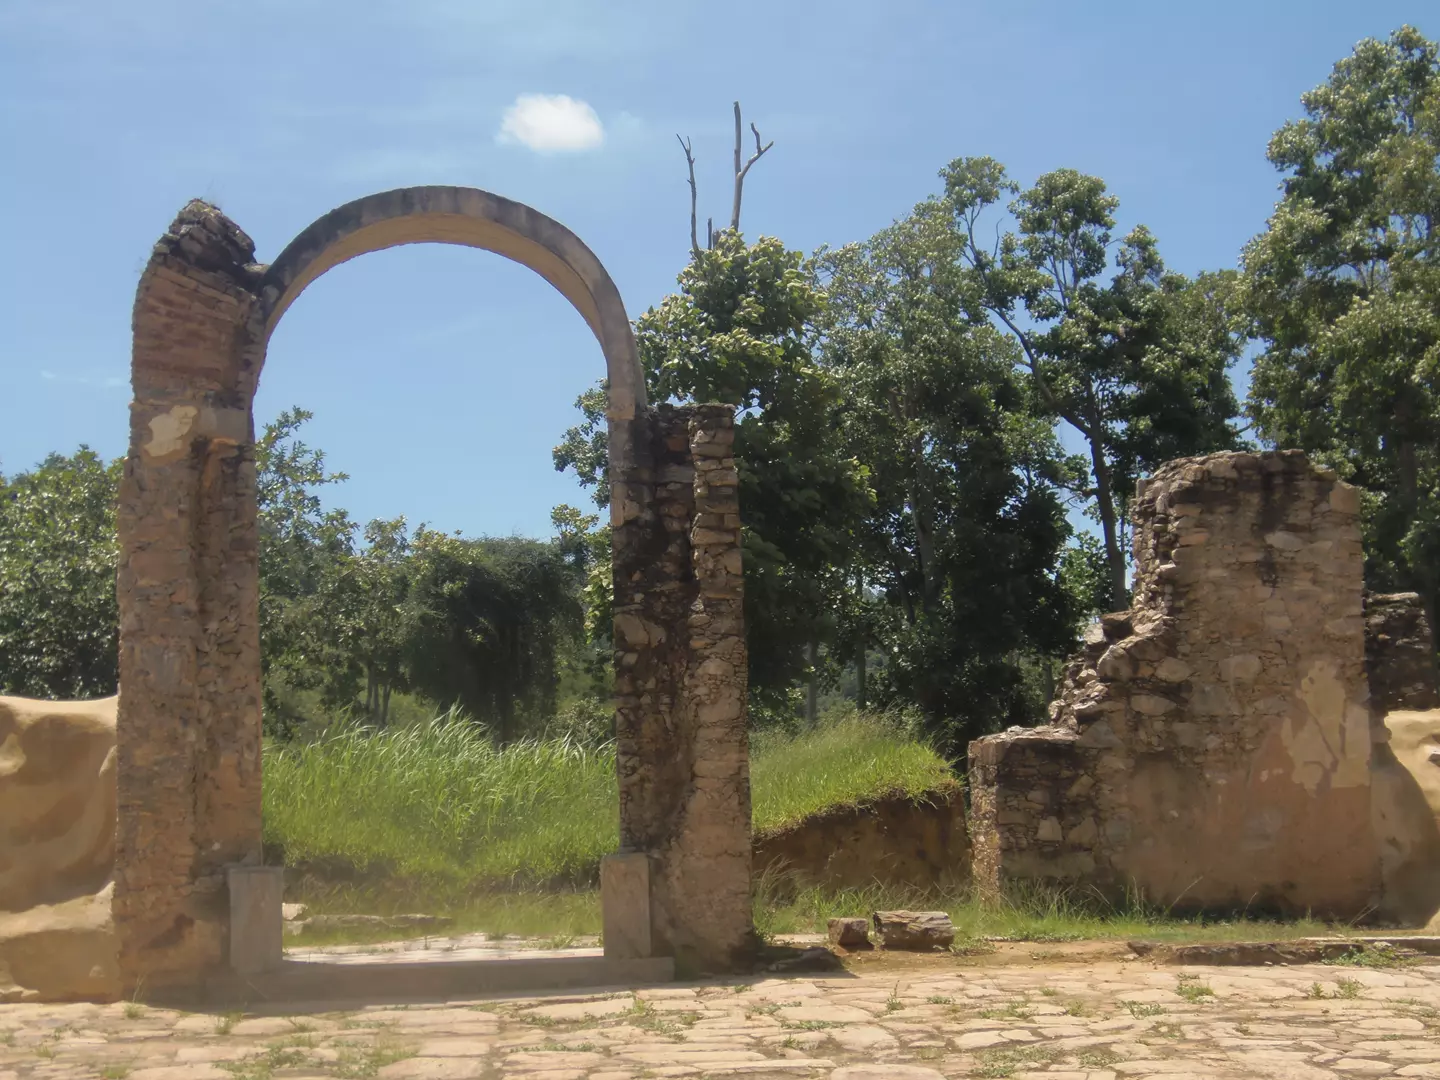
M 0 693 L 114 694 L 121 459 L 88 446 L 0 477 Z

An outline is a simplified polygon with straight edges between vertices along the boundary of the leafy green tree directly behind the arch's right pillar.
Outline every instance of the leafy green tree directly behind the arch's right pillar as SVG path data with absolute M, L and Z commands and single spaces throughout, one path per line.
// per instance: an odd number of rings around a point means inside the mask
M 747 245 L 721 229 L 708 240 L 635 337 L 652 400 L 736 408 L 752 710 L 780 716 L 838 632 L 870 495 L 864 468 L 840 454 L 841 387 L 812 357 L 825 304 L 815 265 L 773 238 Z M 606 505 L 603 392 L 576 405 L 583 420 L 556 446 L 556 468 Z

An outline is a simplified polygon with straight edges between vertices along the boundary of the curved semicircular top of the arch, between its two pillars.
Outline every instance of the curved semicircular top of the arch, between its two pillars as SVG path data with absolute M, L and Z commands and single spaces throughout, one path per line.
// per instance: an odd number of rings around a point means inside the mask
M 357 255 L 405 243 L 482 248 L 533 269 L 575 305 L 599 340 L 611 419 L 634 419 L 645 406 L 629 315 L 600 261 L 553 217 L 475 187 L 397 187 L 356 199 L 312 222 L 261 281 L 265 340 L 321 274 Z

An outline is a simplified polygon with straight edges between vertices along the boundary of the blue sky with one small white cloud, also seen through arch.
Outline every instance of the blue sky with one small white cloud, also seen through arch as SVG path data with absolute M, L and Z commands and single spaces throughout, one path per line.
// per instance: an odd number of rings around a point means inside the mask
M 1426 4 L 883 0 L 3 0 L 0 469 L 124 452 L 130 311 L 187 199 L 262 261 L 350 199 L 492 190 L 570 226 L 631 315 L 685 259 L 681 132 L 701 216 L 727 212 L 730 102 L 775 148 L 744 229 L 864 239 L 989 154 L 1022 183 L 1104 177 L 1187 272 L 1263 228 L 1270 134 L 1356 40 Z M 564 95 L 546 104 L 534 95 Z M 550 448 L 602 374 L 530 271 L 433 245 L 346 264 L 285 315 L 256 420 L 301 405 L 360 520 L 547 534 L 582 503 Z

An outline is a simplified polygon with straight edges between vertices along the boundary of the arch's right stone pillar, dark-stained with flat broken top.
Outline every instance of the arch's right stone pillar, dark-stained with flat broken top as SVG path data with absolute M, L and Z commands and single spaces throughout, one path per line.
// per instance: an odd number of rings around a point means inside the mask
M 645 418 L 636 513 L 612 498 L 621 850 L 648 855 L 652 949 L 724 971 L 755 949 L 734 410 Z

